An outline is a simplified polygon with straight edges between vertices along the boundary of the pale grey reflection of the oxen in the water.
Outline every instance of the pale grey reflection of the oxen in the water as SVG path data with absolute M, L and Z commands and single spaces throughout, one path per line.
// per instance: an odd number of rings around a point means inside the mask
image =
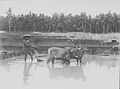
M 75 80 L 81 79 L 82 81 L 86 80 L 86 77 L 84 75 L 83 69 L 81 66 L 63 66 L 62 68 L 55 68 L 54 65 L 50 67 L 48 65 L 50 78 L 58 79 L 58 78 L 73 78 Z

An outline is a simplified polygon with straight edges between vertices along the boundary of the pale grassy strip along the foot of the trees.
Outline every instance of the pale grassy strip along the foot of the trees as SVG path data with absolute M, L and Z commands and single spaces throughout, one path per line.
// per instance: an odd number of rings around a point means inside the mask
M 26 32 L 2 32 L 0 38 L 21 38 Z M 93 40 L 120 40 L 120 33 L 110 34 L 91 34 L 83 32 L 68 32 L 68 33 L 41 33 L 41 32 L 29 32 L 34 37 L 46 37 L 46 38 L 73 38 L 73 39 L 93 39 Z

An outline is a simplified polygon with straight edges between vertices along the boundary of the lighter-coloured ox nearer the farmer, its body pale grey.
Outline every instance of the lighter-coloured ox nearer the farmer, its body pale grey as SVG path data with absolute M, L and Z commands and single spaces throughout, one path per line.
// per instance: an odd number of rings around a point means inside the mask
M 54 64 L 54 60 L 62 60 L 62 63 L 69 64 L 67 54 L 69 54 L 70 47 L 60 48 L 60 47 L 51 47 L 48 49 L 49 58 L 47 63 L 50 61 Z

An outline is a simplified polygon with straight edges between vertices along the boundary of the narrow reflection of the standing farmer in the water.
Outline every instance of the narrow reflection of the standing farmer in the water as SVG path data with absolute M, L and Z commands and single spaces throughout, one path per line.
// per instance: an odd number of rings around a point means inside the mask
M 30 71 L 30 68 L 32 67 L 32 62 L 30 64 L 28 63 L 25 63 L 25 66 L 24 66 L 24 71 L 23 71 L 23 81 L 24 81 L 24 84 L 28 84 L 28 79 L 29 79 L 29 71 Z

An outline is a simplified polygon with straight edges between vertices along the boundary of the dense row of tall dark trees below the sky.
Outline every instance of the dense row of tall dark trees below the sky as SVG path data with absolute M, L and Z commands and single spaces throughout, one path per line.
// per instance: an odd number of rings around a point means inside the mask
M 9 8 L 7 16 L 0 17 L 0 30 L 9 32 L 85 32 L 85 33 L 116 33 L 120 32 L 120 15 L 108 12 L 95 17 L 86 15 L 64 15 L 54 13 L 15 15 Z

